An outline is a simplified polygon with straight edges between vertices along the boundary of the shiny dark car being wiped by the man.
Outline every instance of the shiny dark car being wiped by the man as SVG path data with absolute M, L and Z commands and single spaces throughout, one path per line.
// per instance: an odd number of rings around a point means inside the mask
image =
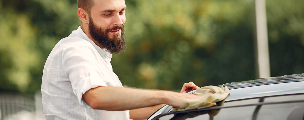
M 218 103 L 209 108 L 176 112 L 172 106 L 165 105 L 147 120 L 304 120 L 304 74 L 233 82 L 224 86 L 228 86 L 230 96 L 221 102 L 223 105 Z

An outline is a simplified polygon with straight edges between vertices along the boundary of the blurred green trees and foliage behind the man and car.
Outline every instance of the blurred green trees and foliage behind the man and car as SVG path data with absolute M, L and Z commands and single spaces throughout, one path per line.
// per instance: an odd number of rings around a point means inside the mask
M 201 87 L 260 78 L 254 0 L 125 2 L 127 48 L 111 61 L 123 85 L 178 91 L 189 81 Z M 41 111 L 43 66 L 56 43 L 81 25 L 76 4 L 0 0 L 1 120 L 20 111 L 5 112 L 13 103 Z M 304 1 L 267 0 L 264 8 L 269 76 L 304 73 Z

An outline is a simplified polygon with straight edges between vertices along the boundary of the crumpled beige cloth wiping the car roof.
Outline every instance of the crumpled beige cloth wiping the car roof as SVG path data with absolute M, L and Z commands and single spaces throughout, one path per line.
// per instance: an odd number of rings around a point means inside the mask
M 196 89 L 194 95 L 204 95 L 195 99 L 187 99 L 181 103 L 179 108 L 173 108 L 174 111 L 185 111 L 191 109 L 201 109 L 216 105 L 216 102 L 220 102 L 227 98 L 230 94 L 227 86 L 217 87 L 217 86 L 205 86 Z

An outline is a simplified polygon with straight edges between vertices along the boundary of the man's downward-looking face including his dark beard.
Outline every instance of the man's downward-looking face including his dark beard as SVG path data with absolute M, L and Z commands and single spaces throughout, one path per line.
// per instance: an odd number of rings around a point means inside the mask
M 125 49 L 124 23 L 126 21 L 124 0 L 93 0 L 89 15 L 89 34 L 102 48 L 117 54 Z

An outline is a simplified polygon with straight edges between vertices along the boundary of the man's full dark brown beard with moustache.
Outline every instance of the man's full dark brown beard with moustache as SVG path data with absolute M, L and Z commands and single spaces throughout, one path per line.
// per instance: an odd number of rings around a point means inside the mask
M 121 30 L 121 35 L 114 34 L 113 38 L 110 38 L 108 32 L 117 29 Z M 122 53 L 126 48 L 126 42 L 124 38 L 124 25 L 113 26 L 110 28 L 101 28 L 98 27 L 93 22 L 91 16 L 89 16 L 89 34 L 92 38 L 94 38 L 96 42 L 98 42 L 99 47 L 106 48 L 111 53 L 119 54 Z

